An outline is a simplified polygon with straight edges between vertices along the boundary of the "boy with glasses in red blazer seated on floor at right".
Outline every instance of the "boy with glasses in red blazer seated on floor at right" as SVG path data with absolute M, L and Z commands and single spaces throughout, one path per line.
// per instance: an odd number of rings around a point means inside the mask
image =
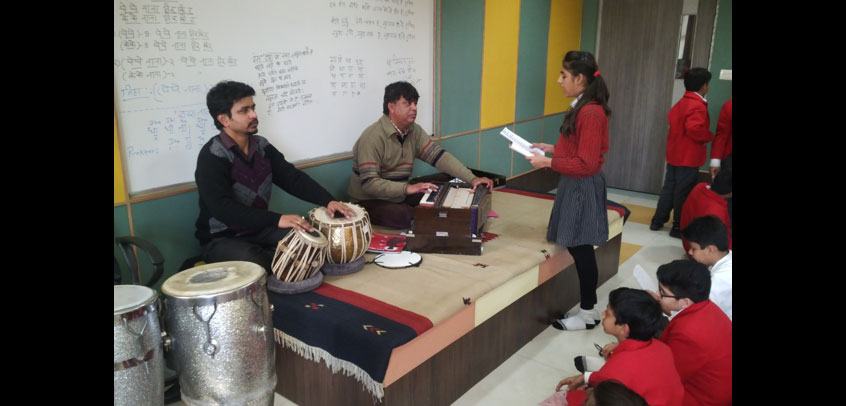
M 658 267 L 658 300 L 670 316 L 660 340 L 673 352 L 685 406 L 730 406 L 731 320 L 708 299 L 708 267 L 676 260 Z

